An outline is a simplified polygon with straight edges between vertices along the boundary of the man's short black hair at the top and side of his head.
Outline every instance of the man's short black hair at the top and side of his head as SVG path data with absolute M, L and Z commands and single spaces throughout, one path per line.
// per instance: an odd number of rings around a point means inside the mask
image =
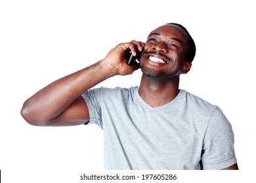
M 190 63 L 193 61 L 194 57 L 196 56 L 196 44 L 194 42 L 194 40 L 192 39 L 190 33 L 188 33 L 188 30 L 181 24 L 177 24 L 177 23 L 167 23 L 168 25 L 177 25 L 178 27 L 181 27 L 181 29 L 183 29 L 187 34 L 188 34 L 188 53 L 186 54 L 186 58 Z

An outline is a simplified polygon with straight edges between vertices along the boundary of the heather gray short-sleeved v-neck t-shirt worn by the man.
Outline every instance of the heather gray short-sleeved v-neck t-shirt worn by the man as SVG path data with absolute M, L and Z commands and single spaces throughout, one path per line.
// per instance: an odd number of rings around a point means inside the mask
M 105 169 L 223 169 L 236 163 L 234 134 L 222 110 L 180 90 L 151 107 L 139 87 L 83 93 L 89 124 L 104 133 Z

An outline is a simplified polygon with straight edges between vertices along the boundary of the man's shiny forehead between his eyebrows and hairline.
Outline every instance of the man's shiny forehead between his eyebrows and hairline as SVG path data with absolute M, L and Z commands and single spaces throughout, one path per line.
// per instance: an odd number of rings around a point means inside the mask
M 188 34 L 177 25 L 161 25 L 160 27 L 154 29 L 154 31 L 152 31 L 150 35 L 160 35 L 164 37 L 169 37 L 170 39 L 179 39 L 182 42 L 188 42 Z

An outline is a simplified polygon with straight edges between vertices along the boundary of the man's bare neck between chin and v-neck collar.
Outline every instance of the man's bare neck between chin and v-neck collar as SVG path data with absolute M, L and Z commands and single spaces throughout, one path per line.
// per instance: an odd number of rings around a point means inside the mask
M 142 75 L 139 95 L 152 107 L 159 107 L 173 101 L 179 93 L 179 76 L 168 80 L 148 78 Z

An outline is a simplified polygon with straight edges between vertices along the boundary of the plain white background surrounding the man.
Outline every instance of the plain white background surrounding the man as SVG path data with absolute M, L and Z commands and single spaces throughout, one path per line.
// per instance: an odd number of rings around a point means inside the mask
M 228 178 L 254 178 L 254 5 L 253 1 L 0 1 L 2 180 L 81 182 L 83 173 L 104 173 L 100 127 L 34 127 L 20 116 L 22 104 L 50 82 L 104 58 L 116 44 L 146 41 L 150 31 L 168 22 L 184 25 L 197 46 L 192 69 L 181 76 L 181 88 L 219 105 L 232 124 L 240 171 Z M 98 86 L 139 85 L 140 75 L 136 71 L 116 76 Z M 186 174 L 196 180 L 204 176 L 209 182 L 221 180 L 205 173 Z

